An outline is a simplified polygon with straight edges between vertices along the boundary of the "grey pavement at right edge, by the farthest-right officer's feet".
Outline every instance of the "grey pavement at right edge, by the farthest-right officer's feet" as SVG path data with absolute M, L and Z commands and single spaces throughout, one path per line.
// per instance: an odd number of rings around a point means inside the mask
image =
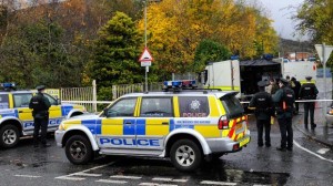
M 333 124 L 326 123 L 325 115 L 326 114 L 324 114 L 323 107 L 316 106 L 314 110 L 314 123 L 316 124 L 316 127 L 311 130 L 309 125 L 309 130 L 305 130 L 303 105 L 300 105 L 300 113 L 295 116 L 296 121 L 294 122 L 294 127 L 301 131 L 309 138 L 333 148 Z

